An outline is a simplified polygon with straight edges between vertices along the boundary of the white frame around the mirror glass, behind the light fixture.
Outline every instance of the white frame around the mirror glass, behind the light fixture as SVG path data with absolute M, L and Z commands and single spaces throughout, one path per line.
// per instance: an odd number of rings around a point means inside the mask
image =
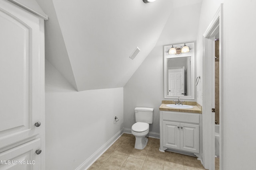
M 173 45 L 174 47 L 183 47 L 183 44 Z M 181 54 L 168 54 L 168 49 L 172 47 L 172 45 L 164 46 L 164 98 L 176 99 L 180 97 L 180 99 L 195 99 L 195 56 L 194 56 L 194 43 L 186 43 L 186 46 L 190 47 L 191 50 L 188 53 Z M 179 58 L 179 57 L 191 57 L 191 96 L 168 96 L 168 86 L 167 86 L 167 59 L 170 58 Z

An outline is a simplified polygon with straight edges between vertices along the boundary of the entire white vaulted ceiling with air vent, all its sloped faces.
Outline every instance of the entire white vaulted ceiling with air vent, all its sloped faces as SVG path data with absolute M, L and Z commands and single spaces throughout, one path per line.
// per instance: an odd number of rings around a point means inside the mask
M 202 0 L 37 2 L 49 17 L 46 59 L 82 91 L 123 87 L 156 45 L 195 40 Z

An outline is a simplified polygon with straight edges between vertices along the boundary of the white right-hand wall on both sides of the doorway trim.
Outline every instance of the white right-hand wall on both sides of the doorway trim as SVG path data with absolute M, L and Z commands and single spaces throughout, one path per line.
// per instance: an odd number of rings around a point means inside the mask
M 236 47 L 256 46 L 255 0 L 203 0 L 197 39 L 197 74 L 202 77 L 202 35 L 222 2 L 224 3 L 223 169 L 250 170 L 255 169 L 256 160 L 254 110 L 256 55 L 246 49 L 236 50 Z M 202 91 L 202 84 L 198 87 L 198 91 Z M 198 98 L 198 103 L 202 104 L 201 96 Z

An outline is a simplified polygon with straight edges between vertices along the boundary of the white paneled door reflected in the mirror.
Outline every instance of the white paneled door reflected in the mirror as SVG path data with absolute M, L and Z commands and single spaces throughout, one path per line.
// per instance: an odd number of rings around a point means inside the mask
M 168 69 L 168 95 L 184 95 L 184 68 Z

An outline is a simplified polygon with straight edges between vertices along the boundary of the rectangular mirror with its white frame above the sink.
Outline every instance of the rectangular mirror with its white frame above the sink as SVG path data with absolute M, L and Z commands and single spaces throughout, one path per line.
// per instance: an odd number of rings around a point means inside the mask
M 173 45 L 181 50 L 184 44 Z M 186 43 L 188 53 L 168 54 L 164 46 L 164 98 L 194 99 L 194 43 Z

